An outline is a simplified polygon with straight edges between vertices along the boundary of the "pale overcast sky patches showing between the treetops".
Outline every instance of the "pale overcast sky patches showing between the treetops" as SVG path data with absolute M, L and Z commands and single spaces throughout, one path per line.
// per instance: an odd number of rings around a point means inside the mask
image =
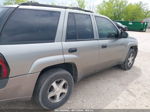
M 3 4 L 5 0 L 0 0 L 0 4 Z M 69 5 L 69 4 L 73 4 L 75 5 L 76 2 L 75 0 L 34 0 L 34 1 L 38 1 L 40 3 L 51 3 L 51 2 L 54 2 L 56 4 L 59 4 L 59 5 Z M 88 8 L 93 8 L 95 7 L 97 4 L 100 4 L 103 0 L 85 0 L 87 5 L 88 5 Z M 150 9 L 150 0 L 128 0 L 129 3 L 137 3 L 139 1 L 142 1 L 144 2 L 145 4 L 147 4 L 147 6 L 149 7 Z

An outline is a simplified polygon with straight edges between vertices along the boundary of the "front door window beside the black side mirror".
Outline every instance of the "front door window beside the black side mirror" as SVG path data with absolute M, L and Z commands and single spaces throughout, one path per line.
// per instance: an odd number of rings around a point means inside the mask
M 95 17 L 99 38 L 115 38 L 118 36 L 118 30 L 114 24 L 104 17 Z

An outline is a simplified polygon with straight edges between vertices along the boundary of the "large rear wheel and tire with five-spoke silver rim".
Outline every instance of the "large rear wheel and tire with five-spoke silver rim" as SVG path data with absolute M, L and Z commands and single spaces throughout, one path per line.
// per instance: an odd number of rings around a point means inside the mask
M 73 86 L 74 81 L 68 71 L 64 69 L 46 71 L 36 84 L 33 100 L 43 109 L 54 110 L 69 99 Z

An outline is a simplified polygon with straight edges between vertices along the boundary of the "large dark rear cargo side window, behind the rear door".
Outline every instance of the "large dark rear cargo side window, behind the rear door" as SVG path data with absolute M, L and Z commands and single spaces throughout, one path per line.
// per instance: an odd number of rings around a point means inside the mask
M 54 42 L 60 12 L 17 9 L 5 25 L 2 44 Z

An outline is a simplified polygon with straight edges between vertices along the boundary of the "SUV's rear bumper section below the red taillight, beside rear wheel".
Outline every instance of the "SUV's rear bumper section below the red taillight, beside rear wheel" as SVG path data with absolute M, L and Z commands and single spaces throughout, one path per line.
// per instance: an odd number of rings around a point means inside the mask
M 31 98 L 39 73 L 0 80 L 0 101 Z

